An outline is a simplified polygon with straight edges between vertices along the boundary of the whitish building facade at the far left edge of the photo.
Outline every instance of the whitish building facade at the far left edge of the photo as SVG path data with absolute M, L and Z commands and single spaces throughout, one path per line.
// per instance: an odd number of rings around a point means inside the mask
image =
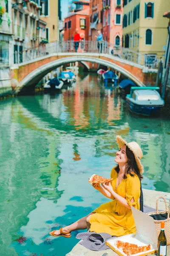
M 11 4 L 0 1 L 0 95 L 11 91 L 10 65 L 12 55 Z

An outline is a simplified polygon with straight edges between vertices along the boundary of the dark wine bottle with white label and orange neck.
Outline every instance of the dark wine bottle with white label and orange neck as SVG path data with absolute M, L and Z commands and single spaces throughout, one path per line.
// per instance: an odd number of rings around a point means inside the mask
M 157 256 L 167 256 L 167 239 L 164 233 L 164 221 L 161 221 L 161 232 L 158 237 Z

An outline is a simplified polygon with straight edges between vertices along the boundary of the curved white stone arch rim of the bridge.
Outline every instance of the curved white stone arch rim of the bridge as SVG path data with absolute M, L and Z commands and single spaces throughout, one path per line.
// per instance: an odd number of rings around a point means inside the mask
M 84 56 L 84 55 L 72 55 L 70 57 L 64 57 L 48 62 L 31 73 L 29 73 L 22 81 L 20 81 L 19 86 L 16 88 L 17 92 L 23 91 L 23 90 L 29 90 L 33 89 L 36 84 L 49 72 L 56 69 L 57 67 L 60 67 L 63 64 L 71 63 L 71 62 L 94 62 L 97 64 L 105 65 L 106 67 L 111 67 L 114 70 L 117 70 L 118 72 L 122 73 L 124 76 L 127 76 L 129 79 L 131 79 L 135 84 L 138 86 L 144 86 L 142 81 L 140 81 L 136 76 L 134 76 L 132 73 L 130 73 L 128 70 L 124 69 L 123 67 L 115 64 L 114 62 L 104 60 L 102 58 L 99 58 L 98 56 Z

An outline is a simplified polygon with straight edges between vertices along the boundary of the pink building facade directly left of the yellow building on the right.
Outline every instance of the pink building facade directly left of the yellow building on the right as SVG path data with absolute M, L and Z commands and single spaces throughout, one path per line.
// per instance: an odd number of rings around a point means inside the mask
M 123 0 L 103 0 L 103 40 L 122 46 Z

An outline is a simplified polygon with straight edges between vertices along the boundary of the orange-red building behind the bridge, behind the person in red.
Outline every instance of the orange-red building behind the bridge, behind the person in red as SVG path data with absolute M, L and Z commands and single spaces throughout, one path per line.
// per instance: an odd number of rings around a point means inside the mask
M 69 8 L 69 16 L 64 20 L 64 41 L 73 40 L 77 31 L 83 40 L 88 40 L 89 32 L 89 1 L 73 1 L 74 7 Z

